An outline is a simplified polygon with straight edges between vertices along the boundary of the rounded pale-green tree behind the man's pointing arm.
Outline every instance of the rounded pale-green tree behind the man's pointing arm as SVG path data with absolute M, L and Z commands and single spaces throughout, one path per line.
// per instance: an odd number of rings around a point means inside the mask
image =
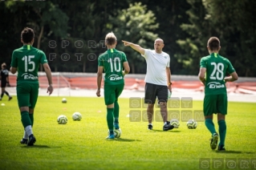
M 119 40 L 117 49 L 126 53 L 132 68 L 131 73 L 138 73 L 145 69 L 144 58 L 140 53 L 124 47 L 121 40 L 139 44 L 140 47 L 152 48 L 154 40 L 157 38 L 157 34 L 153 34 L 153 31 L 158 27 L 155 14 L 151 10 L 147 10 L 147 6 L 138 2 L 130 4 L 128 9 L 118 10 L 117 17 L 111 17 L 110 22 L 112 22 L 112 26 L 109 29 L 113 29 L 117 38 L 122 38 Z

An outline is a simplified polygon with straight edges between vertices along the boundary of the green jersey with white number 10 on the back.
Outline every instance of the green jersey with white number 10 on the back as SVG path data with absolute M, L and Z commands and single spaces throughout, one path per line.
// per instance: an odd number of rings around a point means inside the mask
M 105 85 L 124 84 L 123 63 L 127 62 L 126 55 L 122 51 L 109 49 L 99 56 L 98 66 L 104 67 Z

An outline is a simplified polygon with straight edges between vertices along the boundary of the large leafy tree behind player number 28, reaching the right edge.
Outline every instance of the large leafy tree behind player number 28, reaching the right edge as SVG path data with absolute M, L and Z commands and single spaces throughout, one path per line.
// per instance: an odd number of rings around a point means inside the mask
M 208 55 L 206 43 L 209 37 L 221 40 L 220 55 L 230 59 L 240 76 L 253 76 L 256 71 L 254 44 L 256 24 L 254 22 L 256 2 L 187 0 L 191 8 L 187 10 L 189 23 L 181 29 L 189 38 L 179 39 L 177 43 L 184 50 L 175 57 L 190 74 L 197 74 L 201 57 Z

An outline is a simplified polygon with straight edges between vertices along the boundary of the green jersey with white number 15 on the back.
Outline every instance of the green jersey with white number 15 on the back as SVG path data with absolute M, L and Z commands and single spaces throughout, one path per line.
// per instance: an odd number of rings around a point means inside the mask
M 39 83 L 40 63 L 47 63 L 47 57 L 43 51 L 30 45 L 14 50 L 10 66 L 18 69 L 17 83 Z

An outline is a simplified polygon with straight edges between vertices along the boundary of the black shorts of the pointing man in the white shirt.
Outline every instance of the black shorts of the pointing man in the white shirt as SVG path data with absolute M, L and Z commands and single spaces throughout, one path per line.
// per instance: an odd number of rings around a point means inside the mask
M 152 83 L 145 84 L 144 103 L 156 103 L 156 96 L 161 102 L 168 101 L 168 87 Z

